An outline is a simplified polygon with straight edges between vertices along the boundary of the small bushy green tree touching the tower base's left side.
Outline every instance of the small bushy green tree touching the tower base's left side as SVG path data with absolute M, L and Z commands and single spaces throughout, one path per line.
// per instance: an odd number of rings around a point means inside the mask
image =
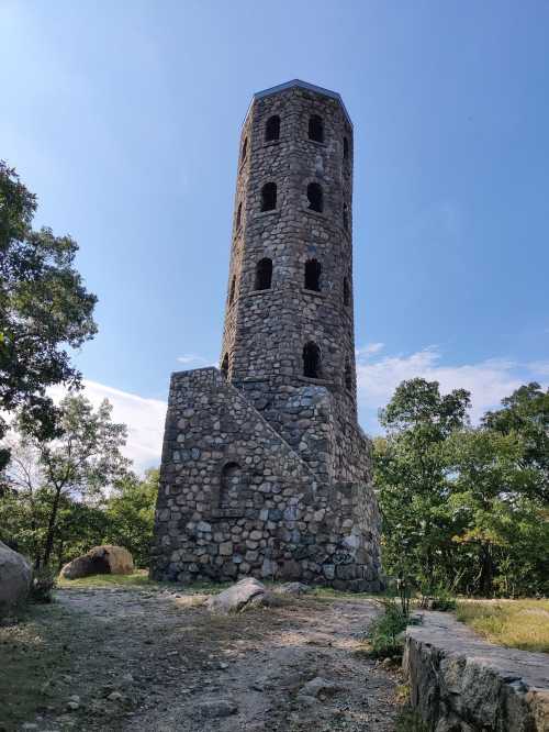
M 125 546 L 141 567 L 149 561 L 157 495 L 158 469 L 152 468 L 143 480 L 130 474 L 119 481 L 107 501 L 105 541 Z

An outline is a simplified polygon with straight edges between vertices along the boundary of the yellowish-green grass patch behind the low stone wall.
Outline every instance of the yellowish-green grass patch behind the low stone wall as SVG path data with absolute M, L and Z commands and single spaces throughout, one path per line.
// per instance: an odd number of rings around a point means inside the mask
M 549 653 L 549 600 L 460 601 L 456 614 L 492 643 Z

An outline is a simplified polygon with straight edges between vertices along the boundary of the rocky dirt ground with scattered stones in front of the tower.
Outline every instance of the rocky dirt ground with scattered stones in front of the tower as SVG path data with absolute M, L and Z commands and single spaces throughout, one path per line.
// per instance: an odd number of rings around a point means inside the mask
M 161 587 L 58 590 L 36 630 L 57 644 L 35 672 L 38 713 L 2 727 L 0 705 L 0 730 L 395 729 L 399 673 L 361 643 L 376 601 L 304 596 L 224 617 L 203 600 Z

